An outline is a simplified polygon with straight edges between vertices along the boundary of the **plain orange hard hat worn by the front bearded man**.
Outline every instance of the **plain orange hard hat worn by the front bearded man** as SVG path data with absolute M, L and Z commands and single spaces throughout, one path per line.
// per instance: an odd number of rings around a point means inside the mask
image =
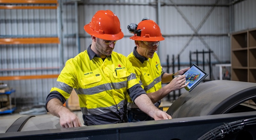
M 84 26 L 84 30 L 104 40 L 120 40 L 124 37 L 118 17 L 110 10 L 97 11 L 92 21 Z

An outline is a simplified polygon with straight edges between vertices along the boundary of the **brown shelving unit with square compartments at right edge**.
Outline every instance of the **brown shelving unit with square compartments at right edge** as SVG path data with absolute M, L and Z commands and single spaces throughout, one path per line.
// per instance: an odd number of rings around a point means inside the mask
M 256 83 L 256 29 L 231 35 L 231 79 Z

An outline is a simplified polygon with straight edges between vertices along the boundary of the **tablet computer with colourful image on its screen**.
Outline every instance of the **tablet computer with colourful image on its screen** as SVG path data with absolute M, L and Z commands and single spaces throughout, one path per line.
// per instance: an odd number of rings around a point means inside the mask
M 196 64 L 193 64 L 189 70 L 187 70 L 183 75 L 186 75 L 186 83 L 189 82 L 185 89 L 190 92 L 193 90 L 205 77 L 208 76 L 204 70 L 200 69 Z

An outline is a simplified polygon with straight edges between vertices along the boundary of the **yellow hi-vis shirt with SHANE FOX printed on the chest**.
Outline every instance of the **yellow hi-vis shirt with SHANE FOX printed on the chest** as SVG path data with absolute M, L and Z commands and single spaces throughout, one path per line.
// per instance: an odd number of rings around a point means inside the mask
M 136 84 L 132 64 L 124 55 L 112 52 L 104 61 L 99 57 L 90 60 L 85 50 L 66 62 L 51 93 L 68 99 L 74 88 L 85 125 L 109 124 L 126 118 L 127 90 Z

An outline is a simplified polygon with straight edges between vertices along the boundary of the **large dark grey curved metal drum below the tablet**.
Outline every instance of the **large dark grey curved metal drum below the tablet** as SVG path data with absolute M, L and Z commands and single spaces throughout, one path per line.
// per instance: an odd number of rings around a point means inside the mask
M 172 118 L 226 114 L 247 100 L 256 99 L 256 83 L 214 80 L 184 92 L 167 110 Z

